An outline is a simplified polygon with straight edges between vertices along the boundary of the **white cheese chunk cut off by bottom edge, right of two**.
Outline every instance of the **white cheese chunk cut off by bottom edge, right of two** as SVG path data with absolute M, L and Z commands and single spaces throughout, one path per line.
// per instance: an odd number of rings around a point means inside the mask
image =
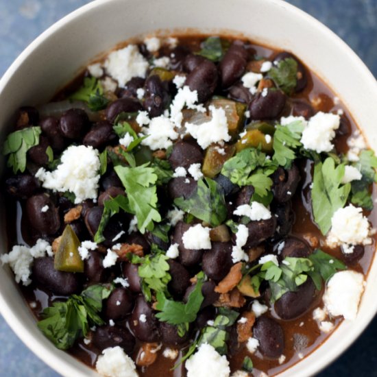
M 187 377 L 229 377 L 230 367 L 226 356 L 203 343 L 186 361 Z

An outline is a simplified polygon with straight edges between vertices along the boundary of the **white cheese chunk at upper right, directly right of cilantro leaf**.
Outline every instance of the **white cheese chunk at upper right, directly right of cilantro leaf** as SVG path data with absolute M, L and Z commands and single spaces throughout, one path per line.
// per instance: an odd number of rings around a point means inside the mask
M 335 130 L 339 128 L 338 114 L 317 112 L 309 119 L 301 137 L 305 149 L 312 149 L 317 153 L 328 152 L 334 147 L 331 141 L 335 137 Z

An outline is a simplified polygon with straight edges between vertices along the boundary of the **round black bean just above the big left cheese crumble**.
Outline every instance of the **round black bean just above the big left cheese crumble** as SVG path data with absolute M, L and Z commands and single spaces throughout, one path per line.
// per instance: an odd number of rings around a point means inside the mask
M 66 138 L 82 138 L 88 127 L 88 114 L 82 109 L 70 109 L 60 118 L 60 131 Z

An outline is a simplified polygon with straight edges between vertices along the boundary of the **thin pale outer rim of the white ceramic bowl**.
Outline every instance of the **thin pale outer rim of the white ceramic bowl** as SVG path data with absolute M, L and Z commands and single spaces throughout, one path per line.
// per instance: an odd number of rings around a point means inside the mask
M 59 32 L 64 25 L 70 23 L 71 21 L 74 21 L 78 17 L 80 17 L 82 14 L 100 7 L 101 5 L 104 5 L 106 3 L 111 3 L 118 0 L 93 0 L 90 3 L 86 3 L 80 8 L 77 8 L 76 10 L 73 10 L 73 12 L 70 12 L 69 14 L 66 14 L 66 16 L 62 17 L 62 19 L 59 19 L 53 25 L 49 26 L 44 32 L 42 32 L 38 37 L 36 37 L 30 44 L 21 52 L 21 54 L 12 62 L 12 64 L 9 66 L 9 68 L 5 71 L 3 76 L 0 79 L 0 96 L 3 91 L 3 88 L 5 88 L 8 81 L 12 79 L 12 75 L 19 69 L 21 64 L 23 64 L 24 60 L 27 59 L 30 53 L 34 51 L 38 46 L 42 45 L 47 38 L 49 38 L 51 35 L 53 35 L 56 32 Z M 134 0 L 123 0 L 123 1 L 134 1 Z M 259 0 L 260 1 L 260 0 Z M 308 23 L 308 27 L 315 27 L 321 32 L 324 32 L 327 34 L 328 38 L 330 38 L 331 42 L 335 43 L 339 46 L 339 49 L 343 49 L 343 52 L 347 53 L 350 60 L 354 62 L 354 64 L 358 65 L 358 75 L 363 75 L 366 80 L 372 80 L 374 82 L 375 86 L 375 92 L 377 95 L 377 81 L 374 75 L 371 71 L 367 68 L 363 60 L 358 57 L 358 55 L 352 50 L 350 46 L 347 45 L 347 43 L 342 40 L 335 32 L 332 32 L 332 30 L 321 23 L 319 20 L 315 19 L 315 17 L 311 16 L 310 14 L 304 12 L 304 10 L 301 10 L 300 8 L 297 8 L 295 5 L 292 5 L 290 3 L 287 3 L 286 1 L 282 0 L 263 0 L 269 2 L 272 6 L 276 6 L 278 8 L 283 8 L 284 10 L 287 10 L 288 12 L 291 12 L 291 14 L 300 17 L 304 21 Z M 228 31 L 227 31 L 228 33 Z M 258 42 L 258 41 L 257 41 Z M 109 49 L 111 49 L 114 46 L 109 46 Z M 93 57 L 95 58 L 95 57 Z M 326 77 L 321 77 L 321 80 L 324 80 L 326 82 Z M 338 93 L 337 93 L 338 94 Z M 341 93 L 339 95 L 341 97 Z M 352 114 L 352 113 L 351 113 Z M 376 256 L 372 258 L 371 265 L 374 262 Z M 367 275 L 367 280 L 369 279 L 369 271 Z M 0 313 L 3 315 L 3 318 L 7 322 L 7 324 L 12 328 L 12 330 L 16 333 L 17 337 L 23 341 L 23 343 L 31 350 L 40 360 L 42 360 L 45 364 L 49 365 L 53 370 L 56 372 L 64 375 L 64 376 L 78 376 L 77 369 L 71 365 L 71 363 L 63 360 L 60 358 L 58 352 L 56 352 L 56 348 L 53 347 L 47 347 L 47 345 L 43 345 L 40 343 L 40 341 L 34 339 L 32 334 L 29 332 L 28 328 L 23 324 L 23 321 L 21 318 L 17 317 L 15 313 L 12 312 L 11 308 L 8 306 L 7 301 L 3 297 L 3 294 L 0 289 Z M 372 321 L 374 316 L 377 313 L 377 301 L 374 303 L 369 304 L 369 311 L 367 315 L 364 316 L 363 321 L 357 321 L 354 323 L 354 326 L 352 326 L 352 334 L 349 334 L 347 337 L 344 338 L 344 341 L 339 344 L 336 348 L 331 348 L 326 353 L 325 358 L 321 358 L 321 363 L 313 363 L 311 367 L 311 375 L 316 374 L 321 369 L 324 369 L 327 367 L 330 363 L 335 361 L 337 357 L 339 357 L 343 352 L 352 345 L 352 343 L 361 335 L 361 332 L 365 330 L 365 328 L 369 325 L 369 323 Z M 321 345 L 319 345 L 321 347 Z M 62 351 L 60 351 L 62 352 Z M 315 352 L 315 350 L 313 350 Z M 312 352 L 311 352 L 312 353 Z M 308 355 L 310 356 L 310 354 Z M 291 367 L 293 367 L 296 364 L 293 364 Z M 290 368 L 291 368 L 290 367 Z M 290 369 L 289 368 L 289 369 Z M 89 369 L 89 367 L 88 367 Z M 284 372 L 289 371 L 289 369 L 285 369 Z M 306 374 L 307 376 L 308 374 Z M 302 376 L 306 377 L 303 372 L 297 372 L 295 376 Z

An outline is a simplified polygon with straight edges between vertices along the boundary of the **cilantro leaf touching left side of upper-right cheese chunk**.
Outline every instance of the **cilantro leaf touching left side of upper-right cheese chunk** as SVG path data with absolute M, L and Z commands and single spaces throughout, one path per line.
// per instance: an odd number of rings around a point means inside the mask
M 273 134 L 273 160 L 278 165 L 289 169 L 292 161 L 296 158 L 295 149 L 300 147 L 300 138 L 304 131 L 302 121 L 293 121 L 287 125 L 276 125 L 275 134 Z

